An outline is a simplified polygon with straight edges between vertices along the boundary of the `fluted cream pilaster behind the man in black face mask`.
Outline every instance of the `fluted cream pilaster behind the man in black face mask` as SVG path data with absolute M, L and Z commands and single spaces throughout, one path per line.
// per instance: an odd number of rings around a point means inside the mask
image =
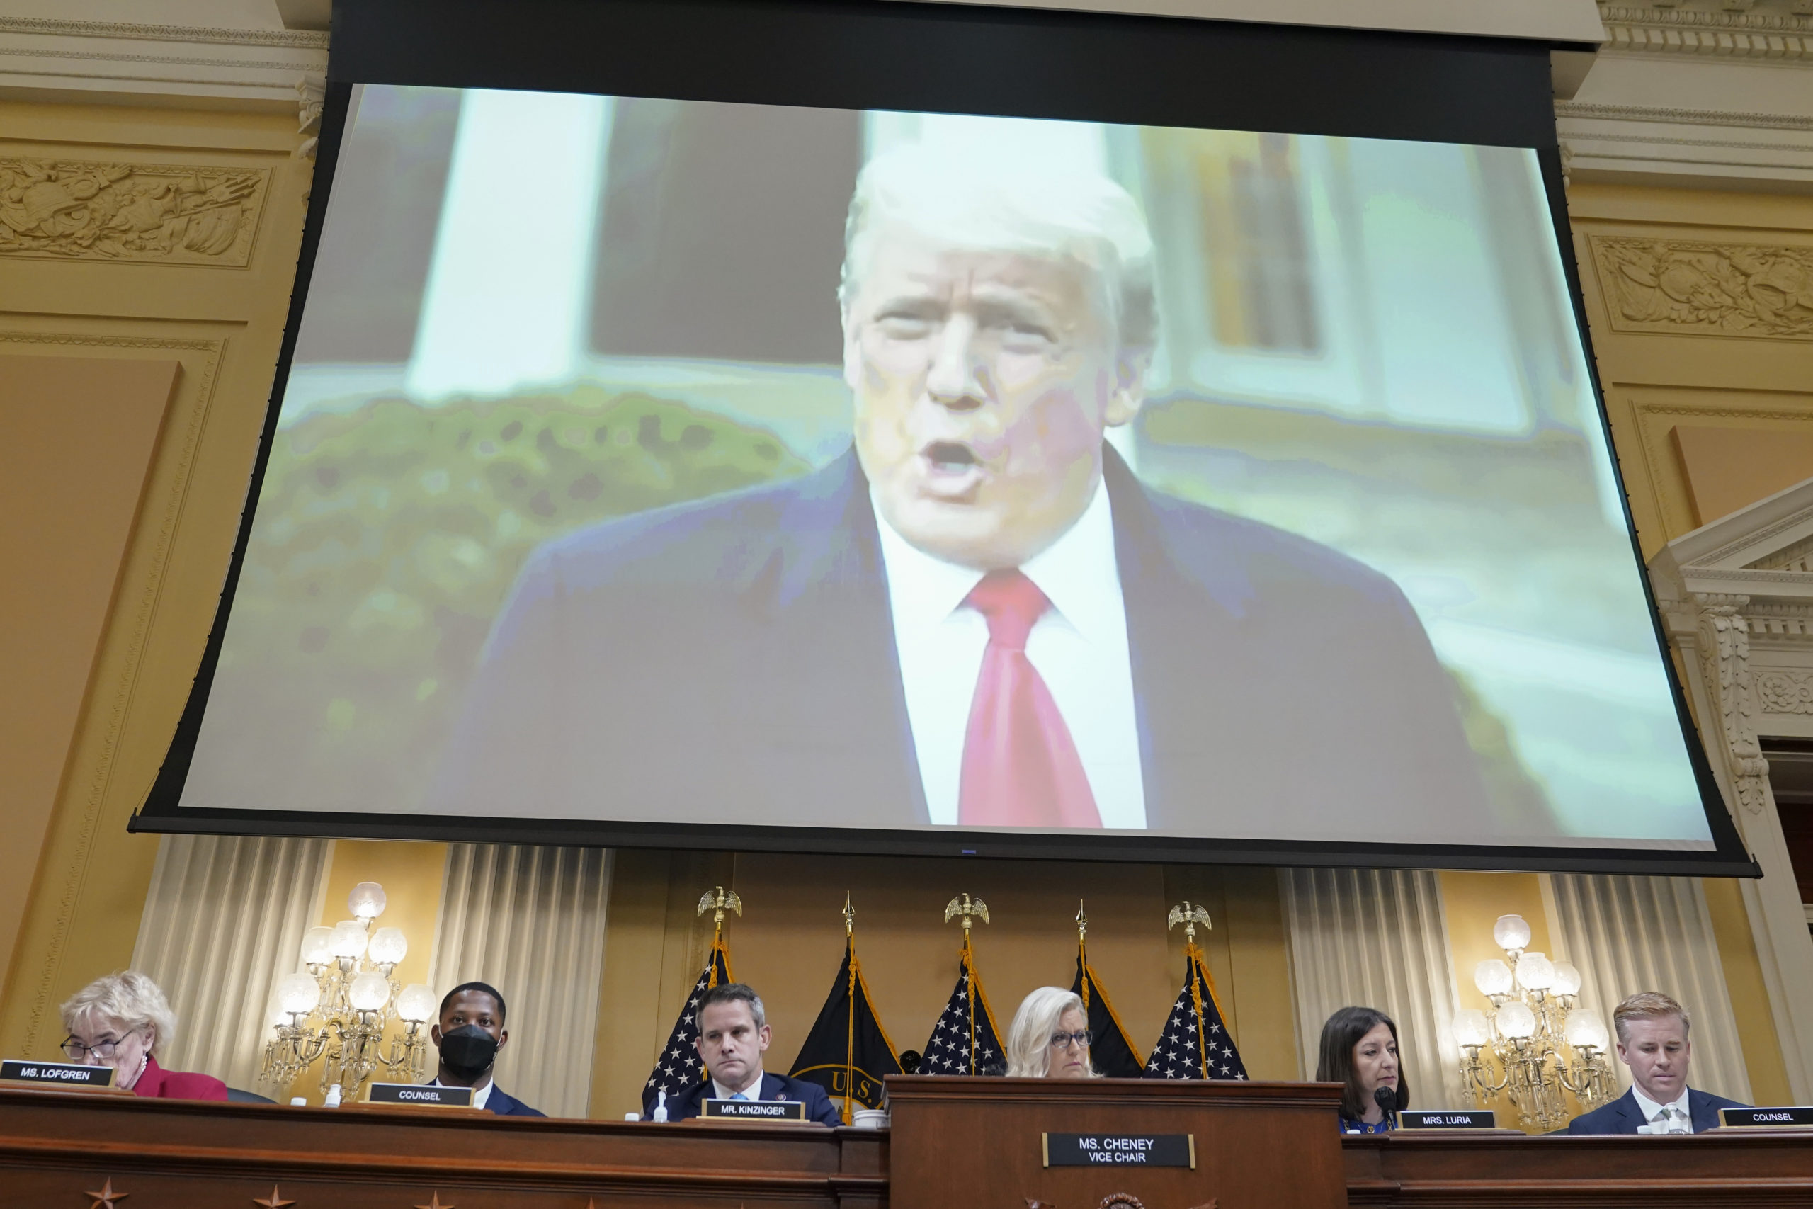
M 611 854 L 448 845 L 428 982 L 490 982 L 509 1008 L 504 1091 L 549 1117 L 584 1117 L 604 972 Z

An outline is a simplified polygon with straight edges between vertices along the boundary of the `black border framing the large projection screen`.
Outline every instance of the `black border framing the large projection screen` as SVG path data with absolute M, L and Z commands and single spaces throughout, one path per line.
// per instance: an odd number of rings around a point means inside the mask
M 1668 656 L 1566 221 L 1548 85 L 1550 51 L 1592 49 L 1456 34 L 990 9 L 905 0 L 343 0 L 334 11 L 315 178 L 272 397 L 221 602 L 169 754 L 131 832 L 332 836 L 625 848 L 981 856 L 1124 863 L 1478 868 L 1760 877 L 1724 805 Z M 649 54 L 685 45 L 689 56 Z M 943 51 L 943 58 L 936 53 Z M 867 58 L 861 54 L 867 53 Z M 934 56 L 934 58 L 928 58 Z M 939 71 L 923 69 L 936 62 Z M 1064 76 L 1052 67 L 1088 65 Z M 1211 87 L 1195 82 L 1207 63 Z M 972 67 L 990 67 L 974 71 Z M 227 618 L 252 535 L 354 83 L 499 87 L 707 102 L 901 109 L 1129 125 L 1336 134 L 1528 147 L 1537 152 L 1599 424 L 1632 535 L 1657 651 L 1706 808 L 1713 850 L 1536 845 L 1371 845 L 1173 836 L 749 827 L 183 808 Z

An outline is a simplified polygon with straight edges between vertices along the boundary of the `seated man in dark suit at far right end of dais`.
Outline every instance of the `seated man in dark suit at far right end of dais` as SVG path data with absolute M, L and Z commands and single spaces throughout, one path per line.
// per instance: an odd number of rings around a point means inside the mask
M 1688 1088 L 1688 1010 L 1659 991 L 1639 991 L 1612 1011 L 1617 1057 L 1630 1068 L 1630 1091 L 1568 1122 L 1568 1133 L 1706 1133 L 1721 1107 L 1737 1100 Z

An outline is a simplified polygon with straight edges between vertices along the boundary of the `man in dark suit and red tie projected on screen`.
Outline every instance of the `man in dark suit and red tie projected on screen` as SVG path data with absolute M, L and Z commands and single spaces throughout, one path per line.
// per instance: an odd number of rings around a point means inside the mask
M 1099 172 L 872 160 L 852 450 L 538 549 L 424 808 L 1494 841 L 1398 585 L 1108 444 L 1144 402 L 1151 261 Z

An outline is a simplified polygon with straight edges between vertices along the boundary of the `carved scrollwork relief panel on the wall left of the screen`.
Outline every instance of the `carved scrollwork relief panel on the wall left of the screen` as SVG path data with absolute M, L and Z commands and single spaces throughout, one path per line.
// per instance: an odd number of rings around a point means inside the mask
M 268 169 L 0 158 L 0 256 L 245 268 Z

